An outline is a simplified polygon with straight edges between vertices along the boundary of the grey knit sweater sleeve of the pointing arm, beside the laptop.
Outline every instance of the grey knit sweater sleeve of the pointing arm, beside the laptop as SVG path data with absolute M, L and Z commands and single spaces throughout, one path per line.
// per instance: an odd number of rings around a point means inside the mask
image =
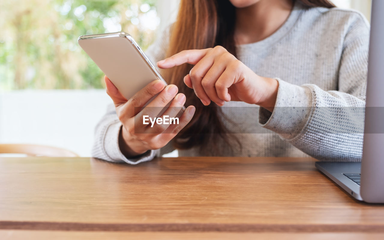
M 322 161 L 361 161 L 369 24 L 360 17 L 348 29 L 338 71 L 338 91 L 278 79 L 272 113 L 260 108 L 259 124 Z

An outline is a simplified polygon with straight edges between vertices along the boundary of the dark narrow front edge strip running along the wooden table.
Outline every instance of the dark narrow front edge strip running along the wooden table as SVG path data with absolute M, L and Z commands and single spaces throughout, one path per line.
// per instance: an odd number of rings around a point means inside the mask
M 248 223 L 78 223 L 0 221 L 0 230 L 65 230 L 126 232 L 384 232 L 383 225 L 366 224 L 248 224 Z

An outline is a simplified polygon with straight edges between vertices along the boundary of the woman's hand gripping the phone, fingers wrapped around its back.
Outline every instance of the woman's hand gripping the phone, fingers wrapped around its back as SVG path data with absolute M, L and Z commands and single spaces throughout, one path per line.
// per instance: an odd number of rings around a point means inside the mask
M 195 113 L 195 107 L 185 109 L 179 124 L 157 124 L 151 127 L 143 124 L 144 115 L 155 118 L 169 103 L 162 114 L 170 118 L 176 117 L 185 103 L 185 95 L 177 94 L 177 86 L 165 86 L 161 80 L 155 80 L 127 100 L 114 86 L 107 76 L 104 77 L 107 94 L 112 98 L 116 113 L 122 123 L 119 135 L 119 147 L 126 157 L 134 157 L 152 149 L 164 147 L 176 134 L 185 127 Z M 141 109 L 153 96 L 158 94 L 151 103 Z M 173 99 L 173 100 L 172 100 Z

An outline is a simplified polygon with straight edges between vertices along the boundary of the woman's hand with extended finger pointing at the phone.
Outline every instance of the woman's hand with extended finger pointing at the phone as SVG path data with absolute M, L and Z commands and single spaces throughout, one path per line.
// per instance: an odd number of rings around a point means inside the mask
M 278 81 L 258 76 L 222 46 L 202 50 L 184 50 L 157 62 L 159 68 L 172 68 L 184 63 L 195 65 L 184 77 L 204 105 L 214 101 L 243 101 L 273 111 Z

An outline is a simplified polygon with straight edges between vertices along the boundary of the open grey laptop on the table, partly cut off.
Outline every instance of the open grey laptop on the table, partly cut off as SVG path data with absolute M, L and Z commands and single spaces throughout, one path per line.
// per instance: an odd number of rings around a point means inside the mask
M 358 200 L 384 203 L 384 1 L 372 0 L 367 98 L 361 162 L 316 162 Z

